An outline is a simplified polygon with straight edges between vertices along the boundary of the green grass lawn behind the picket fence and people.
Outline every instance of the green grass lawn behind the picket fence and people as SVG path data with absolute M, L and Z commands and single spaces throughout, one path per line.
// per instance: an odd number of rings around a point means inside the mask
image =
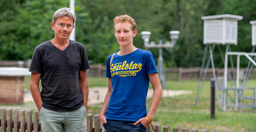
M 29 89 L 29 77 L 26 78 L 25 87 Z M 107 87 L 108 79 L 88 78 L 89 87 Z M 249 80 L 248 87 L 256 87 L 256 80 Z M 215 118 L 210 118 L 210 82 L 205 81 L 199 96 L 197 106 L 194 105 L 196 91 L 198 86 L 197 80 L 185 81 L 167 81 L 169 90 L 189 90 L 192 94 L 184 94 L 175 97 L 163 97 L 159 104 L 158 110 L 154 116 L 153 124 L 161 124 L 163 126 L 170 125 L 170 129 L 174 126 L 199 128 L 199 132 L 203 129 L 219 130 L 223 132 L 256 132 L 256 109 L 240 108 L 238 110 L 229 108 L 228 111 L 218 110 L 215 102 Z M 151 87 L 151 86 L 150 86 Z M 246 95 L 251 92 L 245 92 Z M 216 99 L 217 100 L 217 99 Z M 147 100 L 147 109 L 150 109 L 151 99 Z M 0 106 L 1 107 L 1 106 Z M 88 106 L 88 113 L 100 114 L 102 104 Z

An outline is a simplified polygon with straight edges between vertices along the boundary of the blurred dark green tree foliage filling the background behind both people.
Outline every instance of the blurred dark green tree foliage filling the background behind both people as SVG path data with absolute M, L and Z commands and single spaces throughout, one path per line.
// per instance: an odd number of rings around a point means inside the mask
M 69 0 L 0 0 L 0 60 L 27 60 L 36 45 L 54 37 L 53 13 L 69 7 Z M 82 43 L 93 63 L 106 63 L 108 55 L 118 52 L 113 18 L 128 14 L 137 22 L 134 45 L 146 49 L 141 31 L 150 31 L 150 41 L 170 41 L 169 31 L 181 32 L 172 49 L 163 49 L 167 67 L 201 66 L 203 45 L 202 16 L 234 14 L 238 21 L 238 45 L 232 51 L 252 52 L 252 25 L 256 20 L 254 0 L 75 0 L 75 39 Z M 221 45 L 225 53 L 225 45 Z M 148 48 L 155 58 L 158 49 Z M 215 66 L 223 67 L 217 48 Z M 157 59 L 156 59 L 157 60 Z M 246 59 L 240 66 L 247 66 Z M 234 59 L 235 62 L 235 59 Z

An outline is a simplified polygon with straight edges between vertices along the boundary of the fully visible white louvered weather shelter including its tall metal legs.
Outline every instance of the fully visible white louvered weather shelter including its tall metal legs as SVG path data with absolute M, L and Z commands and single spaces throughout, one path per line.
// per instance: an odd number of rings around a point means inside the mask
M 203 81 L 206 77 L 207 69 L 211 63 L 212 74 L 213 74 L 213 78 L 215 80 L 215 86 L 216 86 L 215 90 L 216 90 L 216 97 L 218 101 L 218 107 L 219 109 L 221 109 L 222 100 L 219 99 L 218 90 L 222 88 L 218 88 L 218 85 L 216 83 L 217 77 L 216 77 L 214 60 L 213 60 L 213 51 L 215 46 L 217 46 L 224 64 L 225 58 L 222 53 L 220 45 L 226 45 L 225 53 L 227 53 L 231 51 L 230 45 L 238 44 L 237 42 L 238 21 L 242 20 L 243 16 L 221 14 L 221 15 L 213 15 L 213 16 L 202 16 L 201 19 L 203 20 L 203 44 L 206 46 L 205 46 L 202 66 L 199 74 L 199 84 L 197 89 L 195 105 L 198 102 L 199 95 L 203 87 Z M 207 59 L 206 58 L 207 50 L 209 50 L 209 57 L 205 66 L 205 60 Z M 233 63 L 233 60 L 230 60 L 230 61 L 231 63 Z

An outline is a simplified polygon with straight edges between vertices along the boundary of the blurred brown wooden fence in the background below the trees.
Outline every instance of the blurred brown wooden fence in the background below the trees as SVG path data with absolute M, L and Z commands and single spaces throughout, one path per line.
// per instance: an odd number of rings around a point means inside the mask
M 30 66 L 31 60 L 27 61 L 11 61 L 11 60 L 0 60 L 0 67 L 26 67 Z M 105 77 L 106 74 L 106 66 L 102 64 L 90 64 L 91 69 L 88 70 L 88 77 Z M 203 72 L 206 69 L 203 69 Z M 187 79 L 199 79 L 201 67 L 177 67 L 170 68 L 166 67 L 164 69 L 167 80 L 187 80 Z M 231 69 L 230 69 L 231 71 Z M 240 68 L 240 75 L 242 75 L 246 71 L 246 67 Z M 205 76 L 206 80 L 211 80 L 213 78 L 212 68 L 208 68 L 206 70 L 207 74 Z M 224 68 L 215 67 L 216 77 L 223 76 Z M 234 73 L 236 70 L 234 69 Z M 235 75 L 234 75 L 235 76 Z M 250 74 L 250 78 L 256 78 L 256 69 L 253 68 Z

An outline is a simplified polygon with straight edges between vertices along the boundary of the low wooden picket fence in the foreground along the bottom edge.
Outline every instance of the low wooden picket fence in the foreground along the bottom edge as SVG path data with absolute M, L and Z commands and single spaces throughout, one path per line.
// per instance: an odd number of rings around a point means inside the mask
M 14 113 L 14 114 L 13 114 Z M 94 120 L 93 120 L 94 117 Z M 19 120 L 20 119 L 20 120 Z M 1 109 L 0 118 L 0 132 L 42 132 L 41 124 L 39 122 L 39 112 L 34 111 L 34 122 L 32 120 L 32 111 L 25 111 L 15 109 L 14 111 L 9 108 Z M 93 128 L 94 124 L 94 128 Z M 87 132 L 102 132 L 102 124 L 100 121 L 100 115 L 88 114 L 87 115 Z M 154 132 L 161 132 L 161 125 L 155 125 Z M 148 127 L 147 132 L 152 132 L 152 128 Z M 165 125 L 163 132 L 170 132 L 170 126 Z M 172 132 L 180 132 L 180 127 L 175 126 L 172 128 Z M 189 132 L 188 127 L 181 128 L 181 132 Z M 191 132 L 199 132 L 198 128 L 191 129 Z M 209 132 L 209 129 L 203 129 L 202 132 Z M 218 130 L 212 130 L 212 132 L 219 132 Z M 229 132 L 229 131 L 224 131 Z

